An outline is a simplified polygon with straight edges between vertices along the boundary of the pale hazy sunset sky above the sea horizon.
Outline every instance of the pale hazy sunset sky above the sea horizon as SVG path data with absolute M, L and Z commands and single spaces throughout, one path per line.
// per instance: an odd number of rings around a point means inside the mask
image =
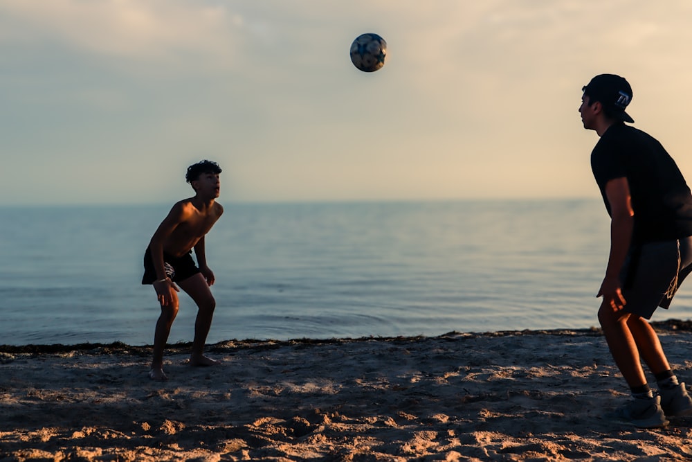
M 0 205 L 598 197 L 598 73 L 692 180 L 689 0 L 0 0 Z M 358 71 L 361 33 L 388 43 Z

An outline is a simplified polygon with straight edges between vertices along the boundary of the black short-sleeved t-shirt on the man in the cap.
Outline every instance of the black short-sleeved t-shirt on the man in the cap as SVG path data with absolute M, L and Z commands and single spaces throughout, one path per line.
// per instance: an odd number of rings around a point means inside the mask
M 692 195 L 680 169 L 653 136 L 624 123 L 611 125 L 591 153 L 605 208 L 605 184 L 626 177 L 635 229 L 632 244 L 692 236 Z

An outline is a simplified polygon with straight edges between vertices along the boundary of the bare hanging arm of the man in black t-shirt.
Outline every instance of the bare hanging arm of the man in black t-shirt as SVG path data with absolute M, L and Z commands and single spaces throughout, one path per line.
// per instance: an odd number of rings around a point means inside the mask
M 605 197 L 610 204 L 610 255 L 605 278 L 597 296 L 610 303 L 614 310 L 621 310 L 626 304 L 620 287 L 620 271 L 627 258 L 632 243 L 634 215 L 632 197 L 627 178 L 621 177 L 605 184 Z

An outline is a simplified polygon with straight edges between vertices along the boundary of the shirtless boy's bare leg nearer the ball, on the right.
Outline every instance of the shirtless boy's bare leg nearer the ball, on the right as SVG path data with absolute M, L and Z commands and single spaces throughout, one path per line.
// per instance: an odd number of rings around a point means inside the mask
M 212 317 L 216 308 L 216 301 L 212 295 L 207 281 L 201 273 L 190 276 L 178 285 L 187 292 L 194 303 L 197 303 L 197 319 L 194 321 L 194 341 L 192 341 L 192 353 L 190 364 L 192 366 L 212 366 L 218 361 L 204 356 L 204 344 L 212 325 Z

